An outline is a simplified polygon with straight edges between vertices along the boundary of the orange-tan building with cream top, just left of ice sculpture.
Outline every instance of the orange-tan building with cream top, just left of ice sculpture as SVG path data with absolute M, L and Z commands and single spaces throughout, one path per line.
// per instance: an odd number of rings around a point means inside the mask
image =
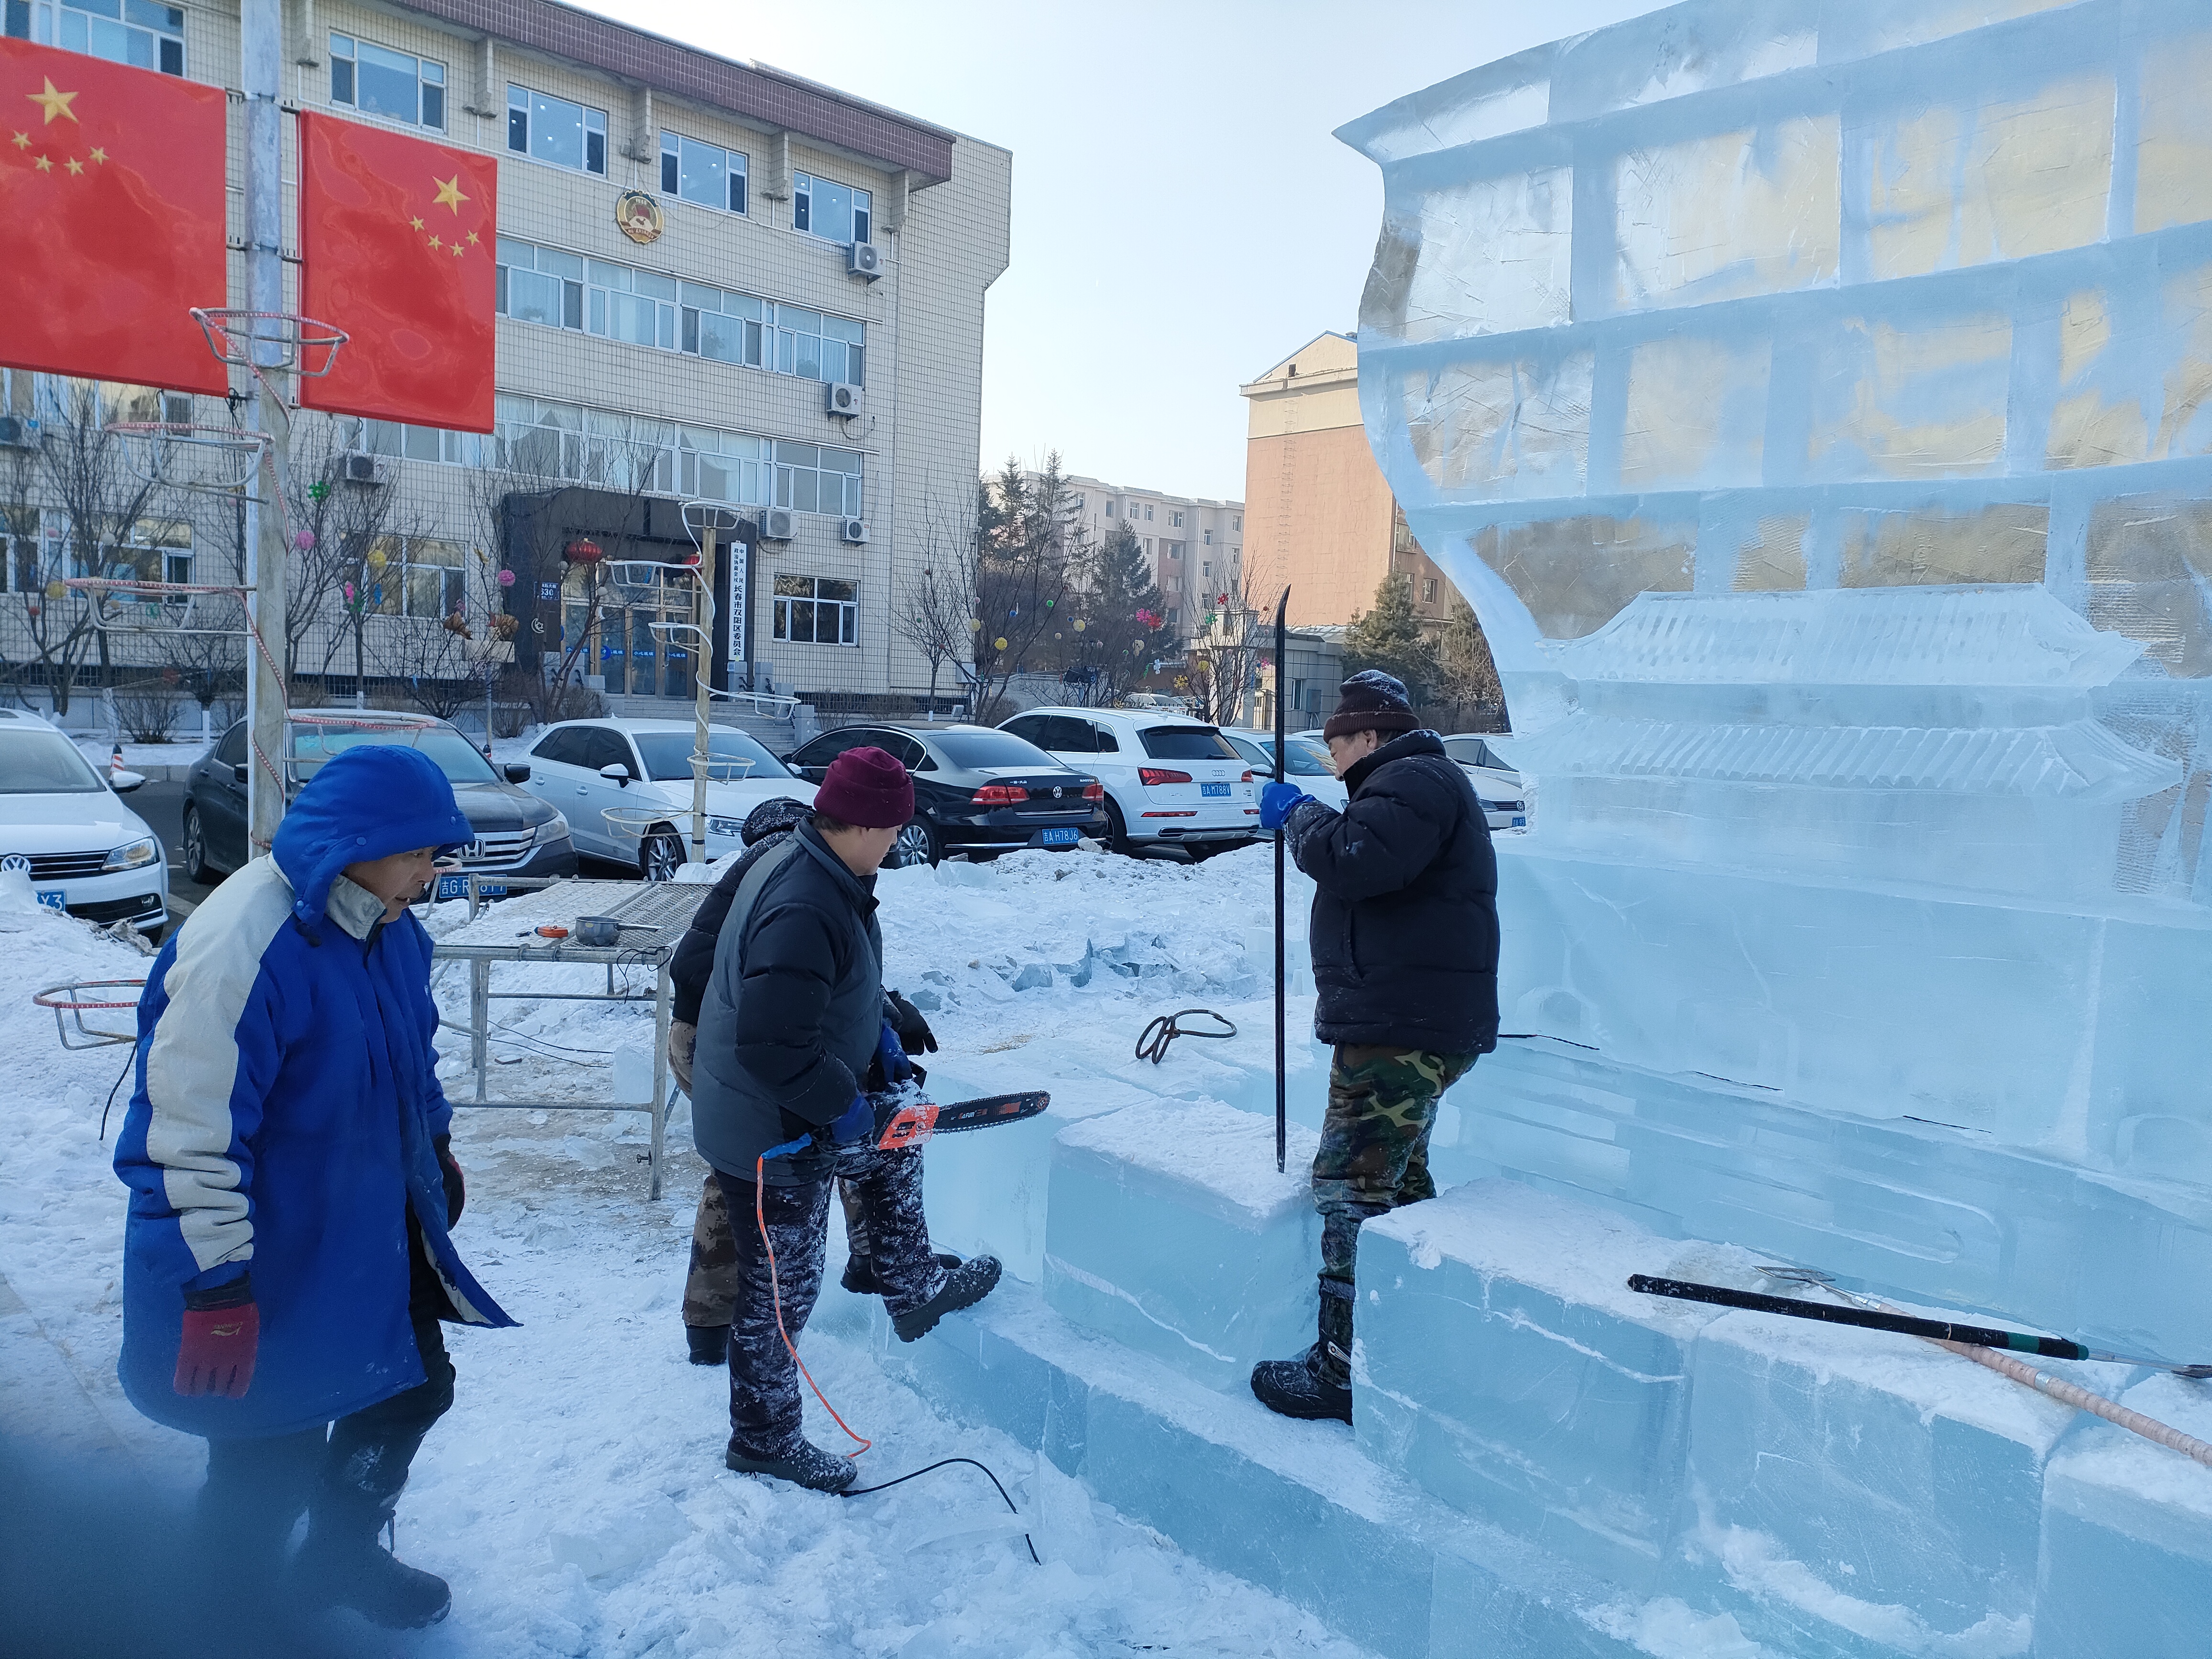
M 1290 582 L 1292 626 L 1352 622 L 1391 571 L 1413 580 L 1422 624 L 1442 626 L 1458 595 L 1367 447 L 1352 336 L 1316 334 L 1237 389 L 1248 414 L 1245 568 Z

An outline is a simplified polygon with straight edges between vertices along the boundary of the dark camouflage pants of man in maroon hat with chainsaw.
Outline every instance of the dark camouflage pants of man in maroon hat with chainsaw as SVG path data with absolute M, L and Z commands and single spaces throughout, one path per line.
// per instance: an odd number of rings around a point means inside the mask
M 836 1155 L 836 1177 L 858 1192 L 867 1217 L 876 1283 L 889 1312 L 907 1314 L 945 1287 L 945 1270 L 929 1250 L 922 1214 L 922 1150 L 880 1152 L 858 1146 Z M 737 1245 L 730 1310 L 730 1449 L 745 1458 L 781 1458 L 801 1440 L 799 1365 L 776 1334 L 776 1296 L 783 1332 L 792 1343 L 814 1312 L 823 1287 L 823 1245 L 830 1232 L 830 1177 L 801 1186 L 765 1186 L 754 1219 L 754 1183 L 714 1170 Z M 768 1248 L 776 1254 L 774 1287 Z

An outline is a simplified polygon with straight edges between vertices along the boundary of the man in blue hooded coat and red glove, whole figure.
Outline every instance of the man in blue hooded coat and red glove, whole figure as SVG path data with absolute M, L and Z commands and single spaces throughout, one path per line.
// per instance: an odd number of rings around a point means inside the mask
M 250 1606 L 283 1579 L 389 1628 L 445 1617 L 445 1579 L 378 1546 L 453 1402 L 438 1321 L 511 1325 L 460 1265 L 453 1108 L 431 945 L 407 911 L 469 841 L 429 757 L 325 763 L 276 832 L 155 958 L 137 1088 L 122 1383 L 208 1440 L 201 1526 Z

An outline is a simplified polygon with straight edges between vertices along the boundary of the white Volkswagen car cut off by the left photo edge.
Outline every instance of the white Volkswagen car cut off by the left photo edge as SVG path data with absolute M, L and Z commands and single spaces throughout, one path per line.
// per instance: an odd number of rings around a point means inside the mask
M 0 708 L 0 869 L 31 878 L 40 905 L 88 922 L 168 927 L 168 858 L 146 821 L 117 801 L 137 772 L 102 779 L 60 730 Z

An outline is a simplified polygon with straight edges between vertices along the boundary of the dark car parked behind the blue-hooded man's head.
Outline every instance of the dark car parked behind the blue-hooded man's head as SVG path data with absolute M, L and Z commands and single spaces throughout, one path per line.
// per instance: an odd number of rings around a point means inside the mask
M 453 783 L 476 843 L 462 849 L 447 883 L 478 876 L 573 876 L 575 843 L 568 821 L 546 801 L 518 785 L 529 779 L 526 765 L 493 770 L 458 728 L 425 714 L 385 714 L 378 710 L 294 710 L 285 719 L 285 801 L 332 754 L 361 743 L 409 743 L 438 763 Z M 252 765 L 246 721 L 239 721 L 208 750 L 186 776 L 184 799 L 184 874 L 197 883 L 217 883 L 226 872 L 248 860 L 246 847 L 246 776 Z

